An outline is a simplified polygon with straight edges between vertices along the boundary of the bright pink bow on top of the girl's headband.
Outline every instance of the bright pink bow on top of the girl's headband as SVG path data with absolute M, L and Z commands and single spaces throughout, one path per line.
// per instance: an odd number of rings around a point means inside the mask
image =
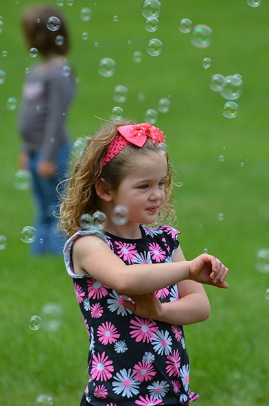
M 130 126 L 120 126 L 117 131 L 131 144 L 139 146 L 140 148 L 145 144 L 147 137 L 152 138 L 153 144 L 155 142 L 165 142 L 163 131 L 159 128 L 151 126 L 149 123 L 141 123 Z

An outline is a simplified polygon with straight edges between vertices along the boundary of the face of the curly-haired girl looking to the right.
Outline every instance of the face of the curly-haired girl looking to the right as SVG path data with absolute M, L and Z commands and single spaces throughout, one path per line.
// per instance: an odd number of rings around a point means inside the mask
M 154 223 L 165 200 L 165 155 L 143 155 L 134 160 L 132 168 L 117 190 L 111 192 L 113 206 L 124 205 L 128 208 L 129 225 Z

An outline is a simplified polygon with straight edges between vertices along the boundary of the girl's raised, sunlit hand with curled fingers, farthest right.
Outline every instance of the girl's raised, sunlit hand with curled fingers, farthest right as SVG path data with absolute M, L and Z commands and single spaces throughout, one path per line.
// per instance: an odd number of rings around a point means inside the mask
M 224 264 L 211 255 L 203 253 L 189 262 L 189 275 L 191 280 L 196 282 L 217 286 L 218 288 L 228 288 L 224 282 L 229 269 Z

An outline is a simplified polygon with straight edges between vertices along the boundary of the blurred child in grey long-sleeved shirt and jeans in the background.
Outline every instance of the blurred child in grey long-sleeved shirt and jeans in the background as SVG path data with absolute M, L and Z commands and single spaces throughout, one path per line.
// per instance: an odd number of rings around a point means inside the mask
M 60 21 L 55 27 L 51 17 Z M 37 49 L 41 60 L 27 74 L 19 113 L 19 131 L 23 139 L 19 167 L 32 172 L 37 215 L 34 227 L 38 238 L 32 253 L 60 255 L 65 239 L 56 235 L 56 186 L 65 179 L 69 159 L 69 136 L 65 120 L 73 98 L 73 73 L 65 62 L 69 36 L 65 20 L 48 5 L 32 5 L 23 13 L 23 34 L 27 49 Z M 43 243 L 39 243 L 43 241 Z

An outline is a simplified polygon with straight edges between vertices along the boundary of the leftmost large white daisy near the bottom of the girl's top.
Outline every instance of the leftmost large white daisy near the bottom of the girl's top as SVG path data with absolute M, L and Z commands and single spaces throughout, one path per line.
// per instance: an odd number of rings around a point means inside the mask
M 140 382 L 137 382 L 136 379 L 134 379 L 131 368 L 128 371 L 124 368 L 117 372 L 116 376 L 113 377 L 115 379 L 112 383 L 112 386 L 114 386 L 113 391 L 117 395 L 121 394 L 122 396 L 132 398 L 132 395 L 139 394 Z

